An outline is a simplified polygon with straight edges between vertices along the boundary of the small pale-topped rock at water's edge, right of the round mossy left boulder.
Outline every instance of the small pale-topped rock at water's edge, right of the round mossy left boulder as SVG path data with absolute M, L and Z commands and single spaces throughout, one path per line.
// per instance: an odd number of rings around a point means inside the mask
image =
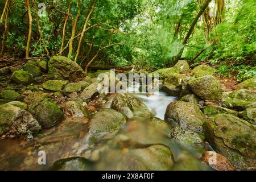
M 64 114 L 72 117 L 84 117 L 89 114 L 89 111 L 75 101 L 65 102 Z

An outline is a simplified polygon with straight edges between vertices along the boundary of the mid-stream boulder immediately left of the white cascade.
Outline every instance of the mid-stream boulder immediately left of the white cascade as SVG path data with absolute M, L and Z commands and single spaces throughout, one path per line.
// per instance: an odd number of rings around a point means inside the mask
M 152 117 L 147 106 L 131 94 L 117 94 L 112 101 L 111 108 L 125 114 L 127 118 L 133 118 L 134 116 Z

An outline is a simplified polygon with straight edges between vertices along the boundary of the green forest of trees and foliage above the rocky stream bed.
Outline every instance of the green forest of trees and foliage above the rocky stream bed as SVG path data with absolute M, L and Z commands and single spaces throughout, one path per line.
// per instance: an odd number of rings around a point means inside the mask
M 177 60 L 216 65 L 221 76 L 253 77 L 253 0 L 5 0 L 1 55 L 63 55 L 89 65 L 154 71 Z

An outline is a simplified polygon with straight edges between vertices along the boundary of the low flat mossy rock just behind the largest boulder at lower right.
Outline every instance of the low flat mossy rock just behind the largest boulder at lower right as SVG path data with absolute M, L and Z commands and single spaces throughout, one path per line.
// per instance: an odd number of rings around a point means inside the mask
M 226 109 L 225 107 L 217 106 L 217 105 L 209 105 L 203 107 L 204 114 L 207 117 L 214 117 L 216 114 L 232 114 L 238 116 L 238 112 L 231 109 Z

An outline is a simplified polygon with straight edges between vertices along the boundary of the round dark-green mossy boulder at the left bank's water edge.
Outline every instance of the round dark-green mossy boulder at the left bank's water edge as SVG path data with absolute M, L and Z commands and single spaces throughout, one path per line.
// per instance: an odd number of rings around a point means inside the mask
M 61 122 L 63 111 L 49 98 L 34 101 L 28 111 L 32 113 L 43 128 L 49 128 Z

